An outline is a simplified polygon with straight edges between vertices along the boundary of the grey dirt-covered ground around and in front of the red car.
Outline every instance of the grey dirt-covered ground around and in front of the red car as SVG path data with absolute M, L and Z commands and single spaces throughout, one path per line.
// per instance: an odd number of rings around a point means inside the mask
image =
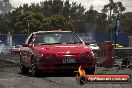
M 3 60 L 4 59 L 4 60 Z M 5 61 L 11 59 L 12 62 Z M 16 61 L 16 63 L 13 63 Z M 18 56 L 0 56 L 0 88 L 132 88 L 132 82 L 126 84 L 85 84 L 80 86 L 76 77 L 70 74 L 46 74 L 32 77 L 31 74 L 22 75 L 19 70 Z M 117 60 L 120 64 L 120 60 Z M 96 67 L 95 74 L 130 74 L 132 69 L 118 70 L 117 67 Z

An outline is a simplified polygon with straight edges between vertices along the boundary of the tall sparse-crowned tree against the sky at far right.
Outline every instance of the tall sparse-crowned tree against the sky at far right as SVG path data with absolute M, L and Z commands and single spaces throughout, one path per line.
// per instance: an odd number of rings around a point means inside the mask
M 106 32 L 114 32 L 116 16 L 119 17 L 125 10 L 126 8 L 123 6 L 122 2 L 110 2 L 109 4 L 104 5 L 102 12 L 105 14 L 110 12 Z

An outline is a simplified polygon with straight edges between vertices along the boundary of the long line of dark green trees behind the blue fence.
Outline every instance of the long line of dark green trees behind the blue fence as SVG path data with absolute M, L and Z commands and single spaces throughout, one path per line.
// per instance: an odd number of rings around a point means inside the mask
M 4 1 L 0 3 L 9 3 L 9 0 Z M 124 13 L 125 10 L 121 2 L 108 3 L 101 12 L 94 10 L 93 5 L 86 10 L 81 4 L 69 3 L 69 0 L 24 4 L 0 15 L 0 33 L 10 31 L 19 34 L 56 29 L 78 33 L 114 32 L 117 17 L 121 23 L 119 31 L 132 32 L 132 12 Z

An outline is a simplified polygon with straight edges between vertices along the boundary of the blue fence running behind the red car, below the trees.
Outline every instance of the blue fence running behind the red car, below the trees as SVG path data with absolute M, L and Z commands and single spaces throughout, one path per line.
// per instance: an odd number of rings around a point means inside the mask
M 114 43 L 114 33 L 77 33 L 83 41 L 90 43 L 99 43 L 103 41 L 111 41 Z M 117 43 L 128 46 L 129 45 L 129 36 L 132 36 L 132 33 L 119 33 L 117 36 Z M 3 41 L 5 44 L 8 42 L 7 34 L 0 35 L 0 41 Z M 28 37 L 28 34 L 14 34 L 12 35 L 13 45 L 23 44 Z

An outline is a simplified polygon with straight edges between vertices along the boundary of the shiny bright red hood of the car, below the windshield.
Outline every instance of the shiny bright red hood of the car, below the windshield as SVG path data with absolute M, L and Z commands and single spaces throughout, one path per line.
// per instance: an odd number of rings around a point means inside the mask
M 52 44 L 52 45 L 37 45 L 34 49 L 38 53 L 53 53 L 53 54 L 77 54 L 83 52 L 92 52 L 91 48 L 84 44 Z

